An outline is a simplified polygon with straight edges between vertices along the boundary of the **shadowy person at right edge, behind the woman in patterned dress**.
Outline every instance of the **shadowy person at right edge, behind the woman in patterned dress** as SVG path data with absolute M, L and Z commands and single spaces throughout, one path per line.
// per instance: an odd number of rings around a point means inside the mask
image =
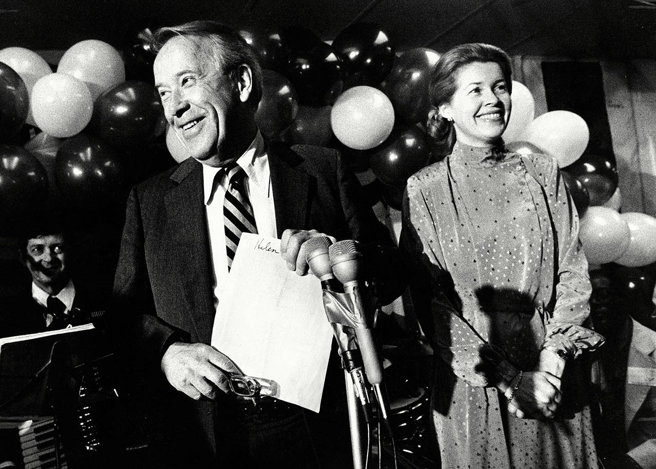
M 590 319 L 606 338 L 592 365 L 594 430 L 605 469 L 656 469 L 656 331 L 613 275 L 590 273 Z M 619 283 L 619 282 L 618 282 Z M 655 305 L 651 305 L 651 310 Z M 642 320 L 642 323 L 632 317 Z

